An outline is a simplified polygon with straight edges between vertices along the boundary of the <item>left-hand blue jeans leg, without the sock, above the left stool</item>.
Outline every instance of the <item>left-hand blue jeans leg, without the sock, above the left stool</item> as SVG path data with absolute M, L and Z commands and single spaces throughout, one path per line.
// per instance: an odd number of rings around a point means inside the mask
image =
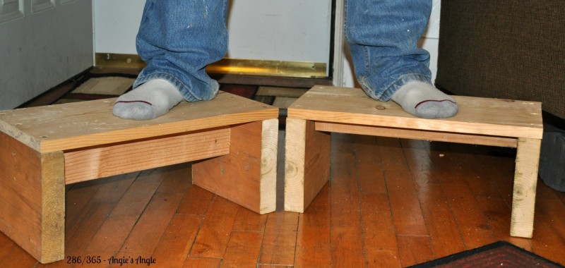
M 133 83 L 165 79 L 189 102 L 213 99 L 218 82 L 206 66 L 227 51 L 227 0 L 147 0 L 136 48 L 147 63 Z

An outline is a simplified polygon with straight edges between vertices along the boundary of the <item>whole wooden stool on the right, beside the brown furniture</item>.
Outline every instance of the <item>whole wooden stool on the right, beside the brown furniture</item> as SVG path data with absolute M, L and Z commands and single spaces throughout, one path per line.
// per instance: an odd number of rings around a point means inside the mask
M 511 236 L 532 237 L 542 139 L 539 102 L 455 97 L 459 113 L 416 118 L 360 89 L 313 87 L 288 108 L 285 210 L 304 212 L 329 178 L 330 133 L 517 147 Z

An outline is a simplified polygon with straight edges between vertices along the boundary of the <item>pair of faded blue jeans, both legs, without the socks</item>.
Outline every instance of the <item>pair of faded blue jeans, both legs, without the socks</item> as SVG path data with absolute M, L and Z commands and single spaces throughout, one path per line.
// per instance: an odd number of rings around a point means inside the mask
M 388 100 L 412 80 L 431 84 L 429 53 L 417 48 L 432 0 L 349 0 L 345 37 L 355 74 L 374 99 Z M 227 51 L 227 0 L 147 0 L 136 45 L 148 65 L 133 87 L 161 78 L 189 102 L 213 99 L 206 66 Z

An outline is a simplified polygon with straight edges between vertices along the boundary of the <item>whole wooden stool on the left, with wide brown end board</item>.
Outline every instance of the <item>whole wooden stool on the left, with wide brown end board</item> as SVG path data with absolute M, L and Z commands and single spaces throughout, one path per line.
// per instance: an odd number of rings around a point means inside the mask
M 0 230 L 40 262 L 64 259 L 70 183 L 201 160 L 194 184 L 254 212 L 275 210 L 277 108 L 220 92 L 134 121 L 112 115 L 113 104 L 0 111 Z

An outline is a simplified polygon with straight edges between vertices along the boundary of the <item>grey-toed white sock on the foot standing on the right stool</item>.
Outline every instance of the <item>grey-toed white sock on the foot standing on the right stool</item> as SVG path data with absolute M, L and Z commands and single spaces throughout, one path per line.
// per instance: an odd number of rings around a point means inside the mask
M 403 85 L 391 99 L 409 114 L 420 118 L 448 118 L 455 116 L 458 111 L 455 99 L 420 81 Z

